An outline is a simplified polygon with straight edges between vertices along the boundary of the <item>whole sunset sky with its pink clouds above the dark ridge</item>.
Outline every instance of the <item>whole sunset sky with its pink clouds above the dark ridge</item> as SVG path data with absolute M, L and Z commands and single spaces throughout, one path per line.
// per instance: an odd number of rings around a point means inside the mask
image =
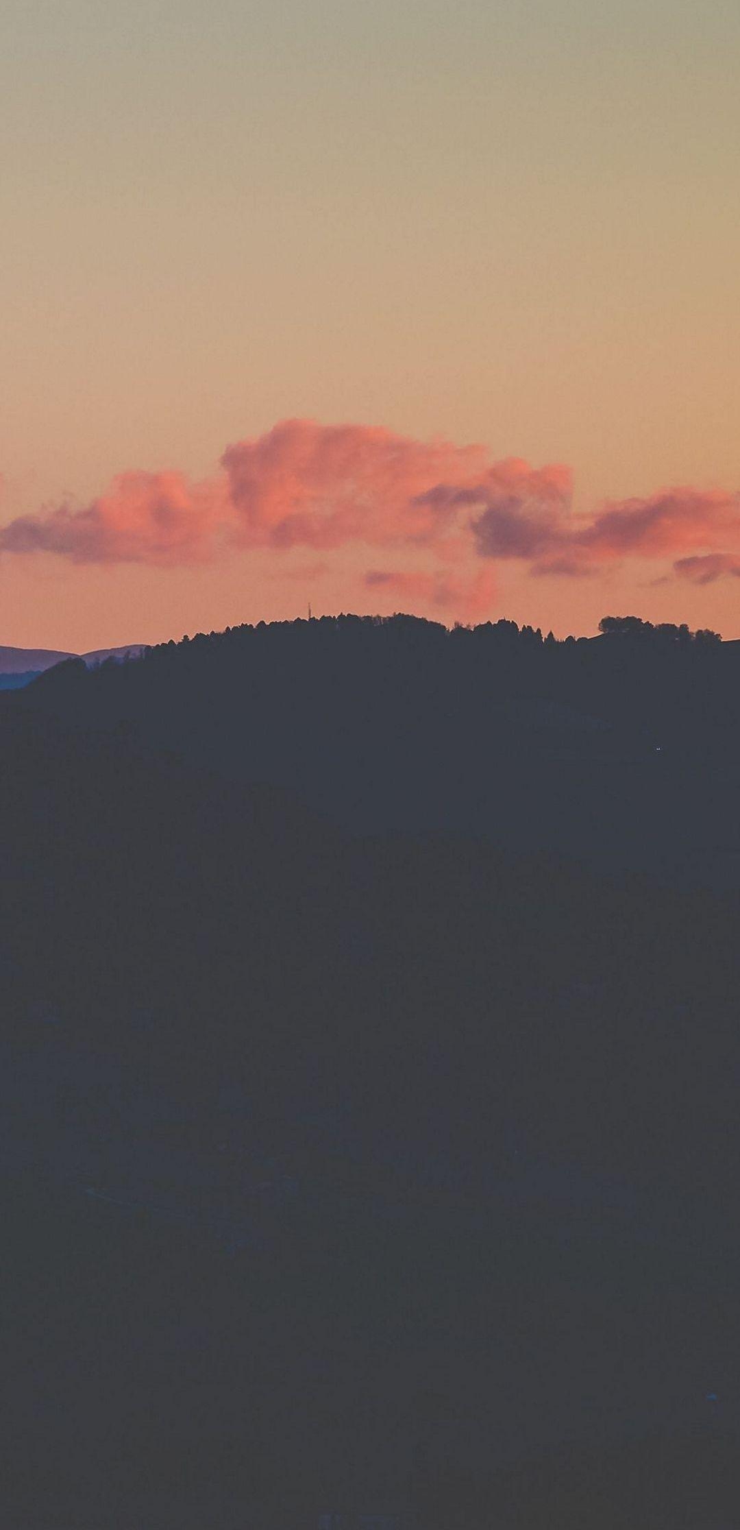
M 5 0 L 0 643 L 740 636 L 737 0 Z

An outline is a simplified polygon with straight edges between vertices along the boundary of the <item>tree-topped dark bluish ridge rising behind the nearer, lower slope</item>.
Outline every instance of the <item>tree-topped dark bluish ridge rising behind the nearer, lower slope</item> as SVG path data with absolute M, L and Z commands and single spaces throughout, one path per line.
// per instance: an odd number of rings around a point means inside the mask
M 543 643 L 408 617 L 240 627 L 34 705 L 269 782 L 352 831 L 454 831 L 740 884 L 740 647 L 685 629 Z

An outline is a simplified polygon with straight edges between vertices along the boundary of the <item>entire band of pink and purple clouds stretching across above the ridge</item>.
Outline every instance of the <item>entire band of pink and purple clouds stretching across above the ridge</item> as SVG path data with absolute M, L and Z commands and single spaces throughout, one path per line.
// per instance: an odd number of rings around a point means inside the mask
M 488 609 L 489 566 L 500 562 L 576 578 L 625 560 L 668 558 L 673 577 L 694 583 L 740 568 L 737 494 L 670 488 L 610 500 L 590 517 L 575 516 L 570 502 L 572 474 L 561 464 L 494 462 L 480 445 L 287 419 L 226 447 L 219 473 L 203 482 L 174 470 L 127 471 L 83 508 L 20 516 L 0 528 L 0 552 L 159 566 L 252 548 L 304 549 L 321 560 L 349 546 L 384 558 L 419 554 L 437 569 L 382 563 L 365 588 L 465 612 Z M 454 572 L 460 565 L 466 571 Z

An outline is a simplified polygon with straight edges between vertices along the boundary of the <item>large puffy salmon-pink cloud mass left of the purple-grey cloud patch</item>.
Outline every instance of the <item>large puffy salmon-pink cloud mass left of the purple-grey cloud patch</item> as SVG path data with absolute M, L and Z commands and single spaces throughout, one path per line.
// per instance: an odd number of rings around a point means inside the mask
M 107 494 L 0 529 L 0 551 L 46 551 L 75 562 L 190 563 L 219 546 L 428 546 L 445 557 L 468 506 L 506 500 L 511 516 L 550 503 L 567 470 L 492 464 L 483 447 L 414 441 L 368 425 L 289 419 L 229 445 L 222 473 L 122 473 Z M 445 542 L 448 543 L 445 546 Z

